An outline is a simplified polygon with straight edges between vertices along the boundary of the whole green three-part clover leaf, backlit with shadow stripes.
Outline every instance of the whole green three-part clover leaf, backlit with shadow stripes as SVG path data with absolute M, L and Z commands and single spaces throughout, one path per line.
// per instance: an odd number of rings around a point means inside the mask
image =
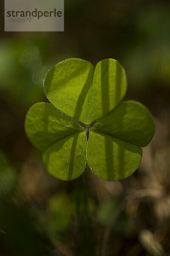
M 120 180 L 136 171 L 141 147 L 152 140 L 155 124 L 142 104 L 120 103 L 126 75 L 118 61 L 104 59 L 95 68 L 79 58 L 62 61 L 48 72 L 44 91 L 50 103 L 29 109 L 25 129 L 44 151 L 51 175 L 73 180 L 86 163 L 104 180 Z

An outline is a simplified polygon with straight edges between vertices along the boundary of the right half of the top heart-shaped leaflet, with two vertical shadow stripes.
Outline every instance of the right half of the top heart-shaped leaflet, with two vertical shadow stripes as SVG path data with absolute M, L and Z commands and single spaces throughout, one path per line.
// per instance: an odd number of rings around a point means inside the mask
M 89 120 L 92 122 L 107 114 L 126 93 L 126 75 L 118 61 L 108 58 L 99 61 L 91 89 Z

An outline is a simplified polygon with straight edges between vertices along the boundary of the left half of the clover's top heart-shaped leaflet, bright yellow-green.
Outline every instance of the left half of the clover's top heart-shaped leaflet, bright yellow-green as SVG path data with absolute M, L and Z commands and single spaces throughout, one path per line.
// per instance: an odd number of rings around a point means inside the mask
M 47 74 L 44 90 L 49 101 L 65 114 L 88 123 L 89 92 L 94 67 L 79 58 L 55 65 Z

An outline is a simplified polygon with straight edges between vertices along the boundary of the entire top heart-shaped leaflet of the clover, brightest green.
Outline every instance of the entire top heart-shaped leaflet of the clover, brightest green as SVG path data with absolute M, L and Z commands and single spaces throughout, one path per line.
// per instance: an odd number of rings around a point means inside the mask
M 88 61 L 71 58 L 48 72 L 44 90 L 60 111 L 90 124 L 115 108 L 125 95 L 125 71 L 111 58 L 99 61 L 95 70 Z

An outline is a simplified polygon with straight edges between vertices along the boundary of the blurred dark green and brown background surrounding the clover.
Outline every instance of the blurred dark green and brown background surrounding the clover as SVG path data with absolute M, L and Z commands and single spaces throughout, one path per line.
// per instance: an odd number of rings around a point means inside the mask
M 3 32 L 3 10 L 1 0 L 0 256 L 170 255 L 170 1 L 65 0 L 65 32 Z M 125 180 L 57 180 L 26 138 L 45 74 L 70 57 L 119 60 L 125 99 L 153 113 L 156 135 Z

